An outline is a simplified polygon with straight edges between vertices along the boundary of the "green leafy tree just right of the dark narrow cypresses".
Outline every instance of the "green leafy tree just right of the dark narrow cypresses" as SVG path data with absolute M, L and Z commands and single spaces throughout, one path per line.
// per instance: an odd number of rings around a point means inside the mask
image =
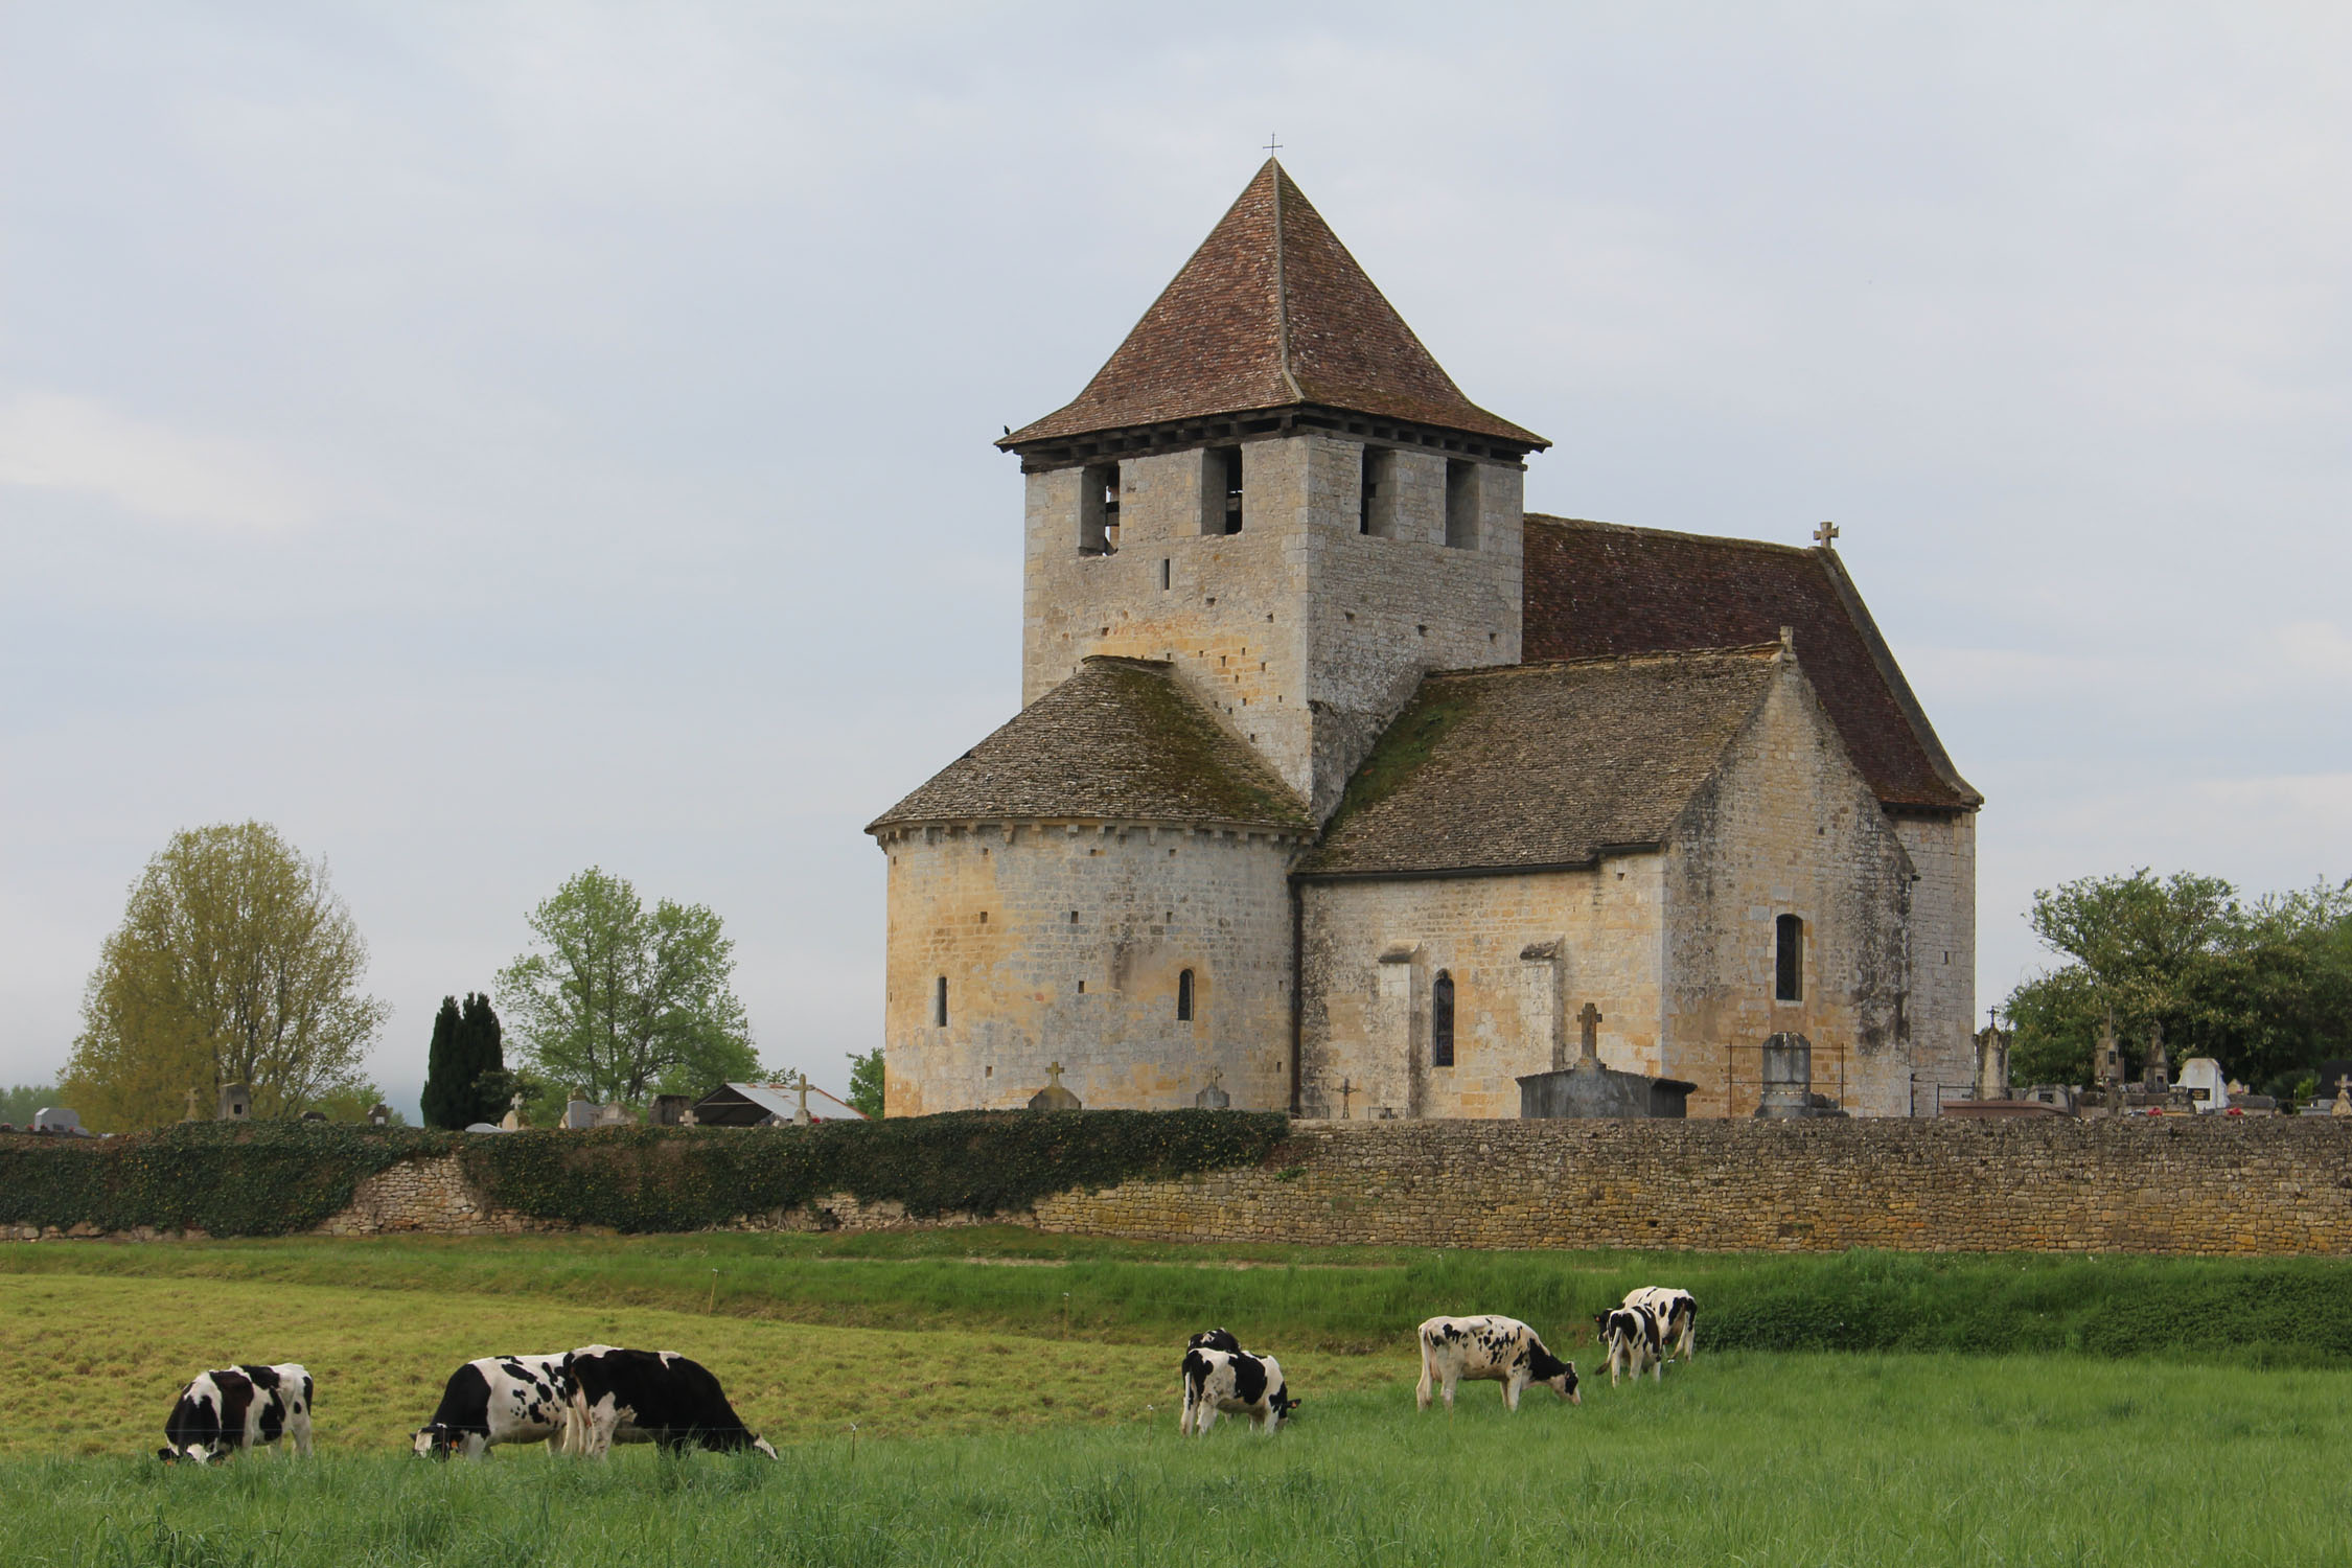
M 647 910 L 637 889 L 590 865 L 529 926 L 541 950 L 499 971 L 499 997 L 548 1081 L 637 1105 L 649 1091 L 760 1077 L 729 990 L 734 943 L 703 905 L 663 898 Z

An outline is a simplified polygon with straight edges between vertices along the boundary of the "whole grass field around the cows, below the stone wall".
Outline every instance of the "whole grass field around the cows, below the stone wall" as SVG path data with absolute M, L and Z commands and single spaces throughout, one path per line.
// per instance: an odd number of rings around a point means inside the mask
M 1414 1410 L 1418 1316 L 1503 1309 L 1569 1340 L 1632 1279 L 1708 1302 L 1700 1359 L 1663 1387 L 1609 1389 L 1588 1359 L 1578 1408 L 1538 1392 L 1505 1418 L 1475 1385 L 1454 1418 Z M 75 1566 L 2352 1563 L 2347 1286 L 2340 1265 L 1028 1232 L 19 1246 L 0 1375 L 68 1396 L 14 1401 L 0 1521 L 16 1561 Z M 2333 1305 L 2199 1338 L 2260 1293 Z M 2098 1354 L 2119 1302 L 2164 1354 Z M 2042 1333 L 2053 1354 L 1708 1338 L 1882 1305 L 1915 1340 Z M 1174 1345 L 1209 1321 L 1282 1354 L 1294 1427 L 1176 1436 Z M 710 1363 L 783 1462 L 405 1453 L 456 1361 L 588 1340 Z M 153 1462 L 174 1387 L 230 1359 L 310 1366 L 318 1460 Z

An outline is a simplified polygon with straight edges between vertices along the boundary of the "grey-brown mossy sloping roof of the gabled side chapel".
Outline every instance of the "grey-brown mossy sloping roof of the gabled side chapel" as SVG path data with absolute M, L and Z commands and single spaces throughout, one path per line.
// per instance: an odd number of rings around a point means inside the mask
M 1663 844 L 1762 705 L 1776 646 L 1430 675 L 1303 872 L 1590 865 Z

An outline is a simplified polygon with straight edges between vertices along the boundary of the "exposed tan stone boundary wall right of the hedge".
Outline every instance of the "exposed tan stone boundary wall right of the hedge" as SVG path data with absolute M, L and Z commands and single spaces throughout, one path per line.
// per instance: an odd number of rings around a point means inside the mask
M 1719 1253 L 2352 1253 L 2331 1119 L 1296 1124 L 1287 1166 L 1065 1192 L 1054 1232 Z

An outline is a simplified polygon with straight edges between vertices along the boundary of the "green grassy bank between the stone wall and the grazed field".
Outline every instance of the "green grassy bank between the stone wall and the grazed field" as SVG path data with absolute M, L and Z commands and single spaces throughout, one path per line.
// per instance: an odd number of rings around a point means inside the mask
M 40 1244 L 7 1276 L 548 1298 L 760 1321 L 1392 1352 L 1435 1312 L 1508 1312 L 1555 1349 L 1635 1284 L 1698 1293 L 1719 1349 L 1957 1349 L 2352 1366 L 2352 1262 L 2312 1258 L 1644 1255 L 1155 1246 L 1016 1227 L 868 1237 Z

